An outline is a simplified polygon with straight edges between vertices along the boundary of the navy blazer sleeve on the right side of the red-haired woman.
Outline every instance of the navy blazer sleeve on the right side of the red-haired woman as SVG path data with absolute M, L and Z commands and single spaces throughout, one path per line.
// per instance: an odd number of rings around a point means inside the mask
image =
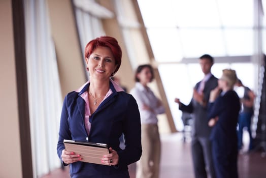
M 126 108 L 123 124 L 125 149 L 118 152 L 118 165 L 134 163 L 142 154 L 140 112 L 136 100 L 131 95 Z

